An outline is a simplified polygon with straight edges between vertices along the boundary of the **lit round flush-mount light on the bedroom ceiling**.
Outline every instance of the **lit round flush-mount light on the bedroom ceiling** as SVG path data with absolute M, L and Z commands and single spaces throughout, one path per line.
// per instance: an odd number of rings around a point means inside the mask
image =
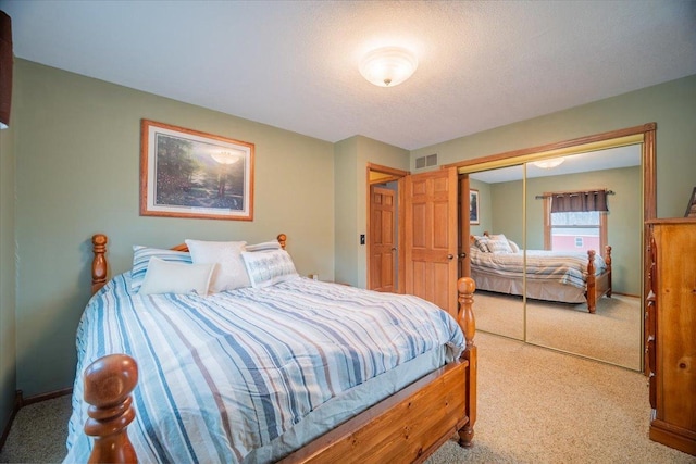
M 372 50 L 360 62 L 360 74 L 380 87 L 398 86 L 415 72 L 418 59 L 401 47 Z

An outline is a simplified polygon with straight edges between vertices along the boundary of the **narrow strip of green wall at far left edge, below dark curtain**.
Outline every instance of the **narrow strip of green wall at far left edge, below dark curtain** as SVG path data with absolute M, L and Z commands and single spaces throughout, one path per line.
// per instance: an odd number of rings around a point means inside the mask
M 11 121 L 10 123 L 13 123 Z M 14 126 L 14 124 L 12 124 Z M 13 128 L 0 130 L 0 434 L 16 389 Z

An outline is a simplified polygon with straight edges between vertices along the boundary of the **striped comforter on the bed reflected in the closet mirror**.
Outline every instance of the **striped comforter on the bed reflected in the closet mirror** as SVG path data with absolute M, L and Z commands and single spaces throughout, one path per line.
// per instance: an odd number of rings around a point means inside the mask
M 526 263 L 524 250 L 519 253 L 484 253 L 471 248 L 471 265 L 476 269 L 504 277 L 521 277 L 532 280 L 552 279 L 560 284 L 585 288 L 587 281 L 587 253 L 558 252 L 549 250 L 527 250 Z M 604 258 L 595 254 L 595 273 L 599 275 L 607 268 Z

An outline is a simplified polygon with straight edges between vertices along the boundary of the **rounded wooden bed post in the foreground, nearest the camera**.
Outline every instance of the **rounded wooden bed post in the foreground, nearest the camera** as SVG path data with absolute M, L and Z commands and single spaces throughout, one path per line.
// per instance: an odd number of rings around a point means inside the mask
M 85 401 L 90 404 L 85 434 L 96 437 L 90 463 L 137 463 L 126 427 L 135 418 L 130 392 L 138 366 L 125 354 L 110 354 L 91 363 L 84 375 Z

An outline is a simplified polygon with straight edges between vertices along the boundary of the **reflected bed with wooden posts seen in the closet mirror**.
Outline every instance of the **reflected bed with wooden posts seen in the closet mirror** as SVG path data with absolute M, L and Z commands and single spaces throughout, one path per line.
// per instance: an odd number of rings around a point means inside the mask
M 476 289 L 562 303 L 587 303 L 596 313 L 597 301 L 611 298 L 611 247 L 605 255 L 521 250 L 504 234 L 470 236 L 471 277 Z

